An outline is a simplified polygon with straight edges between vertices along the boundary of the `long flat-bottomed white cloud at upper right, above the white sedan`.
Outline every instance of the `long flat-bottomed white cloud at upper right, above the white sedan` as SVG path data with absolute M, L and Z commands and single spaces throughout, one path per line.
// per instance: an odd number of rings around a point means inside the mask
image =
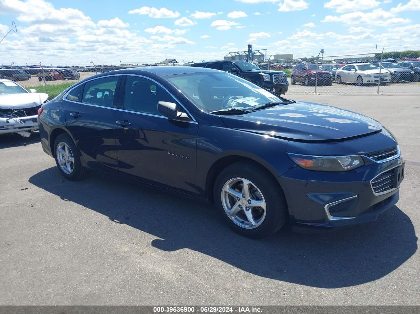
M 396 17 L 394 13 L 376 9 L 372 12 L 360 11 L 342 14 L 340 16 L 327 15 L 321 22 L 341 22 L 349 25 L 376 25 L 389 26 L 394 24 L 409 23 L 410 19 Z

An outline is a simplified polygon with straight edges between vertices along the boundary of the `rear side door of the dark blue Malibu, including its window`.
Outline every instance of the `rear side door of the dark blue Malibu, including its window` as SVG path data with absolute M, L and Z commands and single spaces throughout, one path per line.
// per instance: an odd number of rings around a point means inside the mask
M 66 96 L 67 129 L 91 168 L 118 169 L 114 122 L 121 75 L 87 81 Z

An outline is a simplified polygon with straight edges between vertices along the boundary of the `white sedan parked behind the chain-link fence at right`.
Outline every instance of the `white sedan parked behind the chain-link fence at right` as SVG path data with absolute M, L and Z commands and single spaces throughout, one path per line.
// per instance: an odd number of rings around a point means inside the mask
M 380 76 L 380 77 L 379 77 Z M 371 63 L 348 64 L 336 71 L 336 82 L 338 84 L 356 83 L 363 84 L 386 83 L 391 80 L 389 71 L 381 69 Z

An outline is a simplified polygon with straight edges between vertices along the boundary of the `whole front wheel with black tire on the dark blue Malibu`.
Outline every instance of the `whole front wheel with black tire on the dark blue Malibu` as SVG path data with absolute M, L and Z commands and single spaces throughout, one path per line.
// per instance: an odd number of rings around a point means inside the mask
M 249 183 L 248 192 L 242 189 L 244 181 Z M 228 186 L 238 195 L 236 197 L 239 201 L 225 191 Z M 213 190 L 215 203 L 223 219 L 240 235 L 254 239 L 263 238 L 274 234 L 287 221 L 287 205 L 283 191 L 271 174 L 262 167 L 249 162 L 236 162 L 220 172 Z M 250 195 L 249 200 L 246 199 L 247 194 Z M 262 210 L 263 207 L 252 207 L 253 202 L 264 204 L 265 210 Z M 241 206 L 242 209 L 239 209 Z M 230 209 L 235 210 L 237 214 L 231 216 Z M 254 224 L 247 218 L 249 215 Z

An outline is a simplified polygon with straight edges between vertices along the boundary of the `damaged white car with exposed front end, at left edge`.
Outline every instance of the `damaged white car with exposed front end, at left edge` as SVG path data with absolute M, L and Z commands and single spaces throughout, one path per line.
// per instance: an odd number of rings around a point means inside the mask
M 18 133 L 29 137 L 38 129 L 38 109 L 48 99 L 48 94 L 28 92 L 19 84 L 0 79 L 0 135 Z

